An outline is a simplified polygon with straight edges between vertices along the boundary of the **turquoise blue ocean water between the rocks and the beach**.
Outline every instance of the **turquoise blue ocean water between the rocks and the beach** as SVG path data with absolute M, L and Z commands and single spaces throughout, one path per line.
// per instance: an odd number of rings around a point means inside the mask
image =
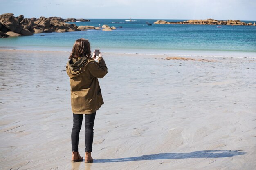
M 77 26 L 107 24 L 117 28 L 113 31 L 39 33 L 3 38 L 0 39 L 0 49 L 71 51 L 76 39 L 85 38 L 90 40 L 92 50 L 100 48 L 101 52 L 256 57 L 256 26 L 160 25 L 153 24 L 157 19 L 125 20 L 91 19 L 91 22 L 75 22 Z

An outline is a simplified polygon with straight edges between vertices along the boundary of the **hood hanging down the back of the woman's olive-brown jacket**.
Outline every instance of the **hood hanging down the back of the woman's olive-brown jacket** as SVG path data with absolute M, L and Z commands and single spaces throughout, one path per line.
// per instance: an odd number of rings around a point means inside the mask
M 72 58 L 67 62 L 66 71 L 70 77 L 76 77 L 85 71 L 85 68 L 90 62 L 87 57 L 81 57 L 80 59 Z

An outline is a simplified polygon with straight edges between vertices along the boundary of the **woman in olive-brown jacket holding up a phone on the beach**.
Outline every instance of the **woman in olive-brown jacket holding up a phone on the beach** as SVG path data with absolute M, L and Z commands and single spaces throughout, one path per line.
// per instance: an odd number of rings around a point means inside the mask
M 70 77 L 73 128 L 71 133 L 72 162 L 83 161 L 78 152 L 79 132 L 83 115 L 85 117 L 85 163 L 92 163 L 93 125 L 96 110 L 104 103 L 98 78 L 108 73 L 101 53 L 91 55 L 90 42 L 83 38 L 76 40 L 67 62 Z M 98 60 L 96 62 L 95 60 Z

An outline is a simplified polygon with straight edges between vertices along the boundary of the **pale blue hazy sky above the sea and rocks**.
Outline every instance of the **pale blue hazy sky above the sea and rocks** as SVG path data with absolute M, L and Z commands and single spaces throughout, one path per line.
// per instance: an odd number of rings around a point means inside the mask
M 256 0 L 0 0 L 2 13 L 25 18 L 256 20 Z

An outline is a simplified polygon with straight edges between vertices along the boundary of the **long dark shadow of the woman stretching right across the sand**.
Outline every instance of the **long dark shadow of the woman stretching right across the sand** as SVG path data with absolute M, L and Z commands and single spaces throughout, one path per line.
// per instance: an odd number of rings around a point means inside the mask
M 105 162 L 128 162 L 128 161 L 143 161 L 143 160 L 157 160 L 157 159 L 187 159 L 187 158 L 223 158 L 233 157 L 236 155 L 244 155 L 246 152 L 241 150 L 202 150 L 190 153 L 159 153 L 142 155 L 140 157 L 128 158 L 113 158 L 113 159 L 95 159 L 94 163 Z

